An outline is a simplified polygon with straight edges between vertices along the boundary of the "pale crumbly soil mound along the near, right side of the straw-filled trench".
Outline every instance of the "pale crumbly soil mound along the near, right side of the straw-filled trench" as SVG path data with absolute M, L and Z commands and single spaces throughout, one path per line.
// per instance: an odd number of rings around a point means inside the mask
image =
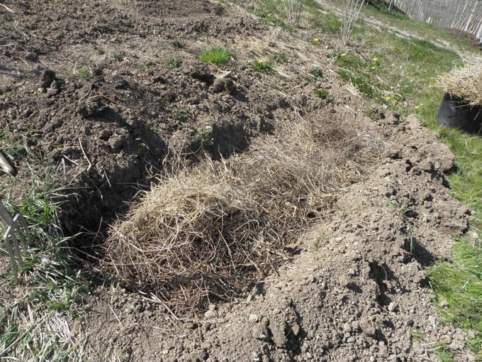
M 135 360 L 162 353 L 162 361 L 438 361 L 443 341 L 457 360 L 473 358 L 461 331 L 440 326 L 423 272 L 449 258 L 452 236 L 467 228 L 469 211 L 449 196 L 444 176 L 453 155 L 415 117 L 400 123 L 388 115 L 370 126 L 386 143 L 379 168 L 301 236 L 293 263 L 203 317 L 168 314 L 181 329 L 168 323 L 162 339 L 152 335 L 165 323 L 155 310 L 170 310 L 162 300 L 111 290 L 125 331 L 99 343 L 119 351 L 119 339 L 128 339 Z M 117 329 L 112 312 L 101 313 L 91 314 L 94 324 Z

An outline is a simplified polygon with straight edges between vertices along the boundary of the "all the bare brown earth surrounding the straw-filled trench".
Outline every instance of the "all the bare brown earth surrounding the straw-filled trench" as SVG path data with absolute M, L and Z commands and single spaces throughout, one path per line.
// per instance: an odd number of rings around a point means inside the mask
M 439 341 L 456 361 L 474 361 L 467 336 L 439 321 L 424 273 L 467 227 L 469 210 L 445 178 L 453 155 L 413 116 L 364 116 L 332 72 L 334 40 L 308 45 L 300 39 L 321 38 L 310 29 L 291 36 L 203 0 L 2 4 L 14 11 L 0 7 L 2 151 L 18 170 L 18 182 L 1 176 L 2 189 L 19 202 L 32 181 L 18 154 L 36 160 L 35 171 L 52 169 L 69 187 L 66 231 L 122 216 L 172 155 L 225 158 L 298 116 L 336 117 L 381 144 L 374 167 L 311 222 L 299 255 L 286 253 L 289 262 L 242 297 L 181 316 L 155 295 L 96 287 L 71 323 L 91 361 L 437 361 Z M 198 61 L 211 46 L 230 48 L 232 61 Z M 274 63 L 274 75 L 247 65 L 281 52 L 288 62 Z M 326 79 L 310 74 L 315 65 Z M 333 104 L 313 96 L 320 87 Z

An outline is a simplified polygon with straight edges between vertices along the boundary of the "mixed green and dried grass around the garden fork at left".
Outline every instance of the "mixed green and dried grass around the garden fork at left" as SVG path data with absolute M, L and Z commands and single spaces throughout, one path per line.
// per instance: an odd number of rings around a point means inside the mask
M 18 197 L 21 203 L 11 203 L 9 182 L 0 187 L 11 214 L 21 212 L 25 216 L 31 236 L 30 251 L 23 257 L 21 287 L 16 288 L 11 268 L 0 269 L 0 278 L 10 280 L 13 290 L 11 297 L 0 298 L 0 356 L 26 362 L 86 361 L 84 341 L 74 338 L 67 327 L 89 284 L 73 268 L 78 260 L 69 241 L 75 236 L 64 237 L 58 224 L 60 194 L 65 190 L 55 186 L 43 155 L 30 151 L 23 158 L 24 167 L 31 172 L 31 183 Z

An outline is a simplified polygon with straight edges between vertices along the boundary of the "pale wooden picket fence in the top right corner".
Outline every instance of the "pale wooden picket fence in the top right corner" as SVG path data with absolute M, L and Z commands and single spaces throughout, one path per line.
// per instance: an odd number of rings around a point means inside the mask
M 427 23 L 456 28 L 476 36 L 482 43 L 482 0 L 385 0 Z

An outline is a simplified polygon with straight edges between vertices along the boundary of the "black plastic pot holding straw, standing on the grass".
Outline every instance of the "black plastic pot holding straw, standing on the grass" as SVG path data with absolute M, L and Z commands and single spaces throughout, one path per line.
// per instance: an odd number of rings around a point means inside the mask
M 445 93 L 437 111 L 437 122 L 441 126 L 479 133 L 482 127 L 482 106 L 469 106 L 463 98 Z

